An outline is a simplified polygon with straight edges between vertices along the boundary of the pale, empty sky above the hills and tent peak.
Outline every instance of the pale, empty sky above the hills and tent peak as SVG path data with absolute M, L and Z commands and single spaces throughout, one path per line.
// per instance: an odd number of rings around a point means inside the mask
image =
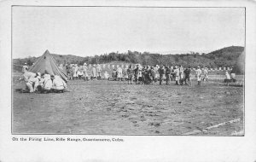
M 210 52 L 244 46 L 243 8 L 19 7 L 13 58 L 110 52 Z

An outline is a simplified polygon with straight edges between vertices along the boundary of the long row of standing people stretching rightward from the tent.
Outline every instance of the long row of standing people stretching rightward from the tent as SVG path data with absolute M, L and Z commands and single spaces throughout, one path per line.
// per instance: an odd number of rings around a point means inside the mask
M 170 84 L 173 80 L 177 85 L 191 85 L 191 67 L 168 67 L 168 66 L 144 66 L 137 64 L 136 67 L 132 68 L 130 65 L 128 68 L 117 67 L 113 68 L 112 74 L 108 71 L 103 72 L 100 65 L 93 65 L 91 68 L 87 67 L 84 63 L 83 66 L 78 66 L 77 64 L 69 64 L 64 67 L 62 65 L 60 68 L 67 73 L 67 78 L 69 80 L 73 79 L 84 79 L 98 80 L 98 79 L 108 79 L 114 81 L 125 80 L 128 84 L 152 84 L 158 82 L 163 84 Z M 198 84 L 201 84 L 201 79 L 204 81 L 208 80 L 208 69 L 197 67 L 195 70 L 195 77 L 197 78 Z

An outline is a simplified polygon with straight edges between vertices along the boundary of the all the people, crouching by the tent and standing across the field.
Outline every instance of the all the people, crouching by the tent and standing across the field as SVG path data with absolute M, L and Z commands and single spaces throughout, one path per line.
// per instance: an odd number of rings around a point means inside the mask
M 84 63 L 83 66 L 77 64 L 68 64 L 65 67 L 60 65 L 62 72 L 67 74 L 68 80 L 84 79 L 101 80 L 108 79 L 113 81 L 128 81 L 128 84 L 153 84 L 159 82 L 159 84 L 171 84 L 171 81 L 175 81 L 177 85 L 190 85 L 192 79 L 191 67 L 169 67 L 169 66 L 144 66 L 137 64 L 134 68 L 130 65 L 128 68 L 117 67 L 113 68 L 112 75 L 109 75 L 108 71 L 103 72 L 100 65 L 93 65 L 91 68 L 87 67 Z M 33 73 L 27 71 L 28 67 L 25 65 L 22 68 L 23 75 L 20 80 L 24 80 L 26 83 L 27 92 L 63 92 L 67 89 L 66 82 L 57 75 L 49 75 L 44 73 Z M 201 85 L 202 81 L 208 81 L 208 69 L 207 67 L 197 67 L 195 69 L 195 78 L 197 84 Z M 236 81 L 236 74 L 234 72 L 225 72 L 224 83 L 230 83 Z M 165 83 L 164 83 L 165 82 Z

